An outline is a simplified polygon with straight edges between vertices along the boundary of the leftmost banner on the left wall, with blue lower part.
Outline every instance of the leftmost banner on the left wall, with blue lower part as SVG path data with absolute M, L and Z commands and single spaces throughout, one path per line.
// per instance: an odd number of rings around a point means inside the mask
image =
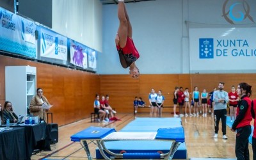
M 0 8 L 0 50 L 36 58 L 35 22 Z

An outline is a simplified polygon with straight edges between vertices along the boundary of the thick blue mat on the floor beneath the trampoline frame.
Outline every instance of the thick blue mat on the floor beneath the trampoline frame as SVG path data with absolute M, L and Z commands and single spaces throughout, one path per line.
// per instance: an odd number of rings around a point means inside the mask
M 136 144 L 136 145 L 135 145 Z M 140 153 L 140 152 L 169 152 L 172 141 L 107 141 L 106 147 L 115 153 L 125 150 L 127 153 Z M 106 154 L 109 156 L 109 154 Z M 186 159 L 187 157 L 186 144 L 181 143 L 175 152 L 174 159 Z M 96 149 L 96 158 L 102 159 L 99 148 Z

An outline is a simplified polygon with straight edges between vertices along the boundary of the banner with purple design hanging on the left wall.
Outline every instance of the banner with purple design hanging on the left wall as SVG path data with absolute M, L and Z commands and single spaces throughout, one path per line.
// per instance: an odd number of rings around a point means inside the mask
M 82 68 L 87 68 L 87 53 L 88 47 L 74 40 L 70 40 L 70 63 Z

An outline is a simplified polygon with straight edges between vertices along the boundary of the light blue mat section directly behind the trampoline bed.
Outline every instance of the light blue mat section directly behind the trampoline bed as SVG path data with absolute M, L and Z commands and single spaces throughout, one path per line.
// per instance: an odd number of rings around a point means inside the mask
M 126 125 L 120 132 L 154 132 L 159 128 L 172 128 L 181 125 Z

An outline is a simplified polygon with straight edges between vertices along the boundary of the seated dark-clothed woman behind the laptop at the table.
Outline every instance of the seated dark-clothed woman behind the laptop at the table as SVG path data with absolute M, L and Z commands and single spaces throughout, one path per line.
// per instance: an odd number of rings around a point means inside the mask
M 4 122 L 6 124 L 6 120 L 9 119 L 10 123 L 16 123 L 18 121 L 17 115 L 11 111 L 12 108 L 12 103 L 9 101 L 6 101 L 4 103 L 4 111 L 3 111 L 3 116 L 4 116 Z

